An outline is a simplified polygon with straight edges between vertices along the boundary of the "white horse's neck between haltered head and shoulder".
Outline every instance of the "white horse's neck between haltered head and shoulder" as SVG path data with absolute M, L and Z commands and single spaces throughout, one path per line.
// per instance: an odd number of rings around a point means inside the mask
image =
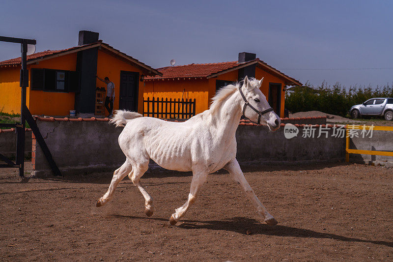
M 223 106 L 211 115 L 211 128 L 217 132 L 218 136 L 223 138 L 235 136 L 236 129 L 239 126 L 241 111 L 241 96 L 238 91 L 233 93 L 224 103 Z

